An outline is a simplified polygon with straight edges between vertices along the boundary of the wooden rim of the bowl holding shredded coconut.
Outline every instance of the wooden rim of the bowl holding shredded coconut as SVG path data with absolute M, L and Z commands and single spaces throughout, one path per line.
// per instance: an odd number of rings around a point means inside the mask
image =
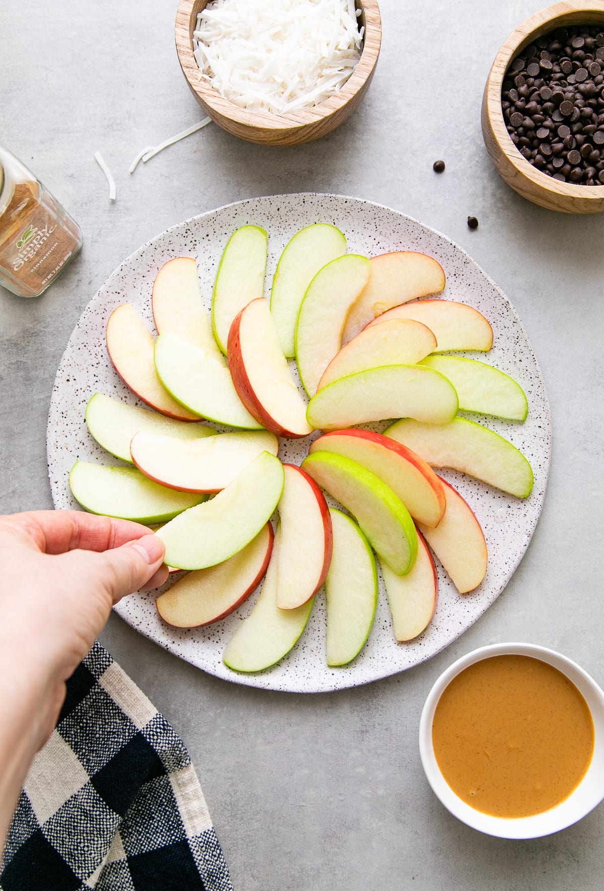
M 213 86 L 209 86 L 200 77 L 200 68 L 193 55 L 190 37 L 194 3 L 195 0 L 181 0 L 178 6 L 175 24 L 176 52 L 184 77 L 193 92 L 200 97 L 204 106 L 208 107 L 208 114 L 212 118 L 216 114 L 219 119 L 227 118 L 244 127 L 266 131 L 279 130 L 282 133 L 288 130 L 297 130 L 309 124 L 316 124 L 322 119 L 330 118 L 363 89 L 367 80 L 371 78 L 378 61 L 381 44 L 381 17 L 378 0 L 356 0 L 356 5 L 362 7 L 365 18 L 363 50 L 353 73 L 337 93 L 312 108 L 301 109 L 291 114 L 277 115 L 268 111 L 242 109 L 234 102 L 224 99 L 224 96 L 217 93 Z

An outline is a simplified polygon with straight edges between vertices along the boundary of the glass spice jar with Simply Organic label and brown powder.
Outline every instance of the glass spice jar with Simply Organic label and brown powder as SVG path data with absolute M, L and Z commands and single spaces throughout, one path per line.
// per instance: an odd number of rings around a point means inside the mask
M 19 297 L 38 297 L 81 247 L 78 224 L 0 146 L 0 284 Z

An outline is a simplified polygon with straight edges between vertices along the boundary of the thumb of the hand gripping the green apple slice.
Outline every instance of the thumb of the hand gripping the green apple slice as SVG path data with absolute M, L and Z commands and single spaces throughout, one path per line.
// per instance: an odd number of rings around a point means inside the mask
M 165 550 L 164 543 L 157 535 L 143 535 L 134 542 L 99 554 L 101 580 L 113 603 L 142 588 L 155 576 Z

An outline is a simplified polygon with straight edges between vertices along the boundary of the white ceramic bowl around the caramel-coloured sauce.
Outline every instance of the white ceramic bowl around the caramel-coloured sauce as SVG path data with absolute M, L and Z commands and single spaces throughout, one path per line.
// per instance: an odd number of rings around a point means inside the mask
M 558 668 L 562 674 L 566 674 L 567 678 L 575 684 L 577 690 L 583 694 L 590 707 L 595 732 L 592 763 L 575 791 L 556 807 L 543 813 L 536 813 L 531 817 L 494 817 L 467 805 L 455 795 L 453 789 L 445 781 L 432 746 L 432 723 L 438 700 L 455 675 L 460 674 L 464 668 L 481 659 L 510 655 L 541 659 L 542 662 L 547 662 L 554 668 Z M 552 832 L 566 829 L 567 826 L 572 826 L 573 823 L 581 820 L 604 798 L 604 692 L 600 690 L 593 678 L 584 672 L 583 668 L 554 650 L 547 650 L 545 647 L 538 647 L 532 643 L 493 643 L 488 647 L 480 647 L 479 650 L 473 650 L 467 656 L 462 656 L 457 662 L 453 662 L 453 665 L 440 675 L 437 683 L 429 691 L 420 718 L 420 756 L 421 764 L 434 794 L 447 810 L 461 822 L 467 823 L 475 830 L 499 838 L 540 838 L 551 835 Z

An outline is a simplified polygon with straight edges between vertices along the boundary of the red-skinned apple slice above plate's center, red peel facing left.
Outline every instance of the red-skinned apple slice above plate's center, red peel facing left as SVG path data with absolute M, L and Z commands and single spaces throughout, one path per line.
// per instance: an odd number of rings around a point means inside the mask
M 312 432 L 264 298 L 252 300 L 233 321 L 229 364 L 241 402 L 258 424 L 280 437 Z

